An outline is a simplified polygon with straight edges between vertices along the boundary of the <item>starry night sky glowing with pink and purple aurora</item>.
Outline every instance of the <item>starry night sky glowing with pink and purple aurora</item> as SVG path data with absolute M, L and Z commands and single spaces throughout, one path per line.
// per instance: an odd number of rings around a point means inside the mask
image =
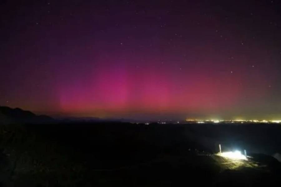
M 281 2 L 0 2 L 0 105 L 53 116 L 281 118 Z

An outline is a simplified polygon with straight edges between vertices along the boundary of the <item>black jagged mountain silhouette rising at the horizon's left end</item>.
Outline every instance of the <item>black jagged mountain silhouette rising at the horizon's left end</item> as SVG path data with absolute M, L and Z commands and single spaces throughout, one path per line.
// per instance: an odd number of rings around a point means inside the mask
M 0 106 L 0 123 L 50 123 L 55 120 L 46 115 L 35 115 L 34 113 L 20 108 Z

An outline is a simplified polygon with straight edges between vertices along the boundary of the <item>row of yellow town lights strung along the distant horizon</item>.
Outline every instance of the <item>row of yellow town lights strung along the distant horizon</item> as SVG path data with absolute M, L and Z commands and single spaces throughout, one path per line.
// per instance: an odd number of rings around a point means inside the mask
M 281 120 L 217 120 L 217 119 L 186 119 L 186 122 L 190 123 L 281 123 Z

